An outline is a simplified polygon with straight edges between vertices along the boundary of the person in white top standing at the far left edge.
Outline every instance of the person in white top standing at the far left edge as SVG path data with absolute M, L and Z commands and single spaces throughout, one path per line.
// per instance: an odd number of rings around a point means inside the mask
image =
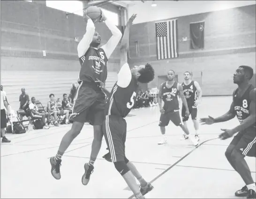
M 8 111 L 8 104 L 6 102 L 6 95 L 5 93 L 1 90 L 1 138 L 2 138 L 2 142 L 11 142 L 10 140 L 8 140 L 5 137 L 5 128 L 7 127 L 7 118 L 6 118 L 6 112 L 4 107 L 7 109 L 7 115 L 9 115 L 9 111 Z

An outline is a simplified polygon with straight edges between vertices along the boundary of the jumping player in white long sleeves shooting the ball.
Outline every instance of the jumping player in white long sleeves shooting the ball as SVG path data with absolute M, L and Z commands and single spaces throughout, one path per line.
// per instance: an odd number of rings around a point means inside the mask
M 85 174 L 82 183 L 88 184 L 90 174 L 94 169 L 98 152 L 101 147 L 103 132 L 102 123 L 105 118 L 105 94 L 101 88 L 105 87 L 107 77 L 107 60 L 120 41 L 122 34 L 120 30 L 106 19 L 104 13 L 101 14 L 101 22 L 111 30 L 113 36 L 101 48 L 101 39 L 98 32 L 95 32 L 95 26 L 90 17 L 84 14 L 84 20 L 87 22 L 86 33 L 77 46 L 78 57 L 81 65 L 79 72 L 79 86 L 74 98 L 73 112 L 70 119 L 73 120 L 71 130 L 64 135 L 61 140 L 59 150 L 55 157 L 51 157 L 51 173 L 55 179 L 60 179 L 61 157 L 67 150 L 71 142 L 81 132 L 85 122 L 89 121 L 93 125 L 94 139 L 91 146 L 91 155 L 89 163 L 85 163 Z

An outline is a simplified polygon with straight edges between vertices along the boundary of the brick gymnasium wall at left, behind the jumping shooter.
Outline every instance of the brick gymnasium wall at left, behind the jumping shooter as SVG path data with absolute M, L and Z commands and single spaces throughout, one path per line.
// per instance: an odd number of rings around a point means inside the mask
M 75 37 L 80 41 L 85 28 L 82 16 L 67 19 L 66 12 L 46 7 L 45 0 L 1 1 L 1 70 L 79 71 Z M 96 31 L 102 44 L 111 37 L 105 23 L 96 24 Z M 119 70 L 118 49 L 109 59 L 109 71 Z

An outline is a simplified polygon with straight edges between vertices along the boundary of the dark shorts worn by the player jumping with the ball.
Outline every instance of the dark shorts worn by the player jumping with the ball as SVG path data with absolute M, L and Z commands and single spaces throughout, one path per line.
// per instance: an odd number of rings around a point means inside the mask
M 102 125 L 105 119 L 105 94 L 100 88 L 93 88 L 82 81 L 77 87 L 72 114 L 69 120 L 90 122 L 90 125 Z

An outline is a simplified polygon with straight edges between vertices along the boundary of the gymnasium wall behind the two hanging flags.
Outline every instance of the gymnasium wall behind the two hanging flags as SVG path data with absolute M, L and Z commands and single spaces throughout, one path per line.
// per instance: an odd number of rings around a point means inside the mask
M 134 24 L 130 30 L 129 65 L 149 62 L 154 66 L 156 78 L 148 85 L 150 88 L 158 87 L 164 81 L 161 76 L 173 69 L 180 82 L 183 73 L 191 71 L 205 96 L 231 95 L 236 87 L 232 79 L 235 69 L 240 65 L 256 69 L 255 17 L 256 5 L 177 17 L 179 58 L 165 60 L 157 60 L 155 22 Z M 199 21 L 205 21 L 204 49 L 191 50 L 189 23 Z M 188 40 L 183 42 L 182 37 Z

